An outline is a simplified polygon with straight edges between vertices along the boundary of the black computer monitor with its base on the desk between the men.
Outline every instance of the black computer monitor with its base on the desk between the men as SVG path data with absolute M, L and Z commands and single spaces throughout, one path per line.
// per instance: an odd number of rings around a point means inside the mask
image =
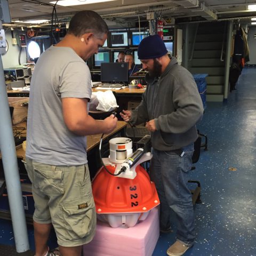
M 129 80 L 128 63 L 103 62 L 101 63 L 101 87 L 120 88 Z

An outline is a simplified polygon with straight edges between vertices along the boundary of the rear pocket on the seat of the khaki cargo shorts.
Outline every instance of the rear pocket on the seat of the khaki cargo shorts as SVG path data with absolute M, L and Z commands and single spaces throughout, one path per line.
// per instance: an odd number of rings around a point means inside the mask
M 62 168 L 59 166 L 35 163 L 34 186 L 46 195 L 64 194 Z

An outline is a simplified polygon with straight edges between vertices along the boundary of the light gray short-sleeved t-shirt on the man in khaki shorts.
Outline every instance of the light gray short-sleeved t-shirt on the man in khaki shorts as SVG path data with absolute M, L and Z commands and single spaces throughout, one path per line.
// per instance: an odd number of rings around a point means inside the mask
M 91 92 L 90 70 L 73 49 L 47 49 L 31 79 L 26 157 L 51 165 L 87 163 L 86 137 L 68 130 L 61 98 L 90 100 Z

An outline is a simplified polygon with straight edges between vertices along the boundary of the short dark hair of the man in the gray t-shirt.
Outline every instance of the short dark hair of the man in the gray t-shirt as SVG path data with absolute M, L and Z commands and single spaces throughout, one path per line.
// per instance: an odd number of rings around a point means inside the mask
M 69 22 L 68 34 L 78 37 L 90 32 L 102 37 L 103 34 L 108 33 L 108 26 L 96 12 L 89 10 L 77 12 Z

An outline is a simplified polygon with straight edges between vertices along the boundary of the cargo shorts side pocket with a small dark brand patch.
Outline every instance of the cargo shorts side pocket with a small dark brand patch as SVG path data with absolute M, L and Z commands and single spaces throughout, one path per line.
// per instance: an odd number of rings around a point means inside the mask
M 81 239 L 94 232 L 96 212 L 93 197 L 62 204 L 64 225 L 68 230 L 67 239 Z

